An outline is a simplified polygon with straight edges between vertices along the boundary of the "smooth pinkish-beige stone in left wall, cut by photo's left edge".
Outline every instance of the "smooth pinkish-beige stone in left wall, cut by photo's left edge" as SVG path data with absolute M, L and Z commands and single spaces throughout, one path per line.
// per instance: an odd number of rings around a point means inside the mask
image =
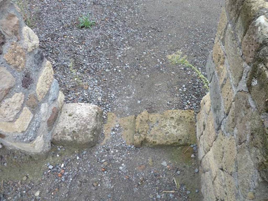
M 0 66 L 0 101 L 15 85 L 15 82 L 15 78 L 4 67 Z

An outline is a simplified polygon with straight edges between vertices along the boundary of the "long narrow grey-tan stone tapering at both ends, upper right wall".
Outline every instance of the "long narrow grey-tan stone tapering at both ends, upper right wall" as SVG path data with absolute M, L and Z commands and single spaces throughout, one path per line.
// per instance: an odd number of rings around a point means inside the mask
M 242 78 L 244 66 L 241 49 L 230 25 L 227 28 L 225 36 L 225 51 L 231 71 L 231 77 L 236 87 Z

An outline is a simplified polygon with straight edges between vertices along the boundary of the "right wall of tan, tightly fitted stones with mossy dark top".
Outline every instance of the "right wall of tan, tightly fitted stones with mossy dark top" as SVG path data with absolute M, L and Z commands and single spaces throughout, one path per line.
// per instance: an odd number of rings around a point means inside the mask
M 197 116 L 204 200 L 268 200 L 268 2 L 226 0 Z

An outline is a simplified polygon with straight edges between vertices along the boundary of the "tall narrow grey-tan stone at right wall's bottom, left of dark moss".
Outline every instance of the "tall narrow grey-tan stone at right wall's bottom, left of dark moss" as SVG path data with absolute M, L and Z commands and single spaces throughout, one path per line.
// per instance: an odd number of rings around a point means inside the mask
M 254 162 L 251 159 L 250 152 L 245 143 L 238 147 L 237 174 L 239 190 L 246 198 L 250 189 L 256 187 L 258 172 L 255 169 Z

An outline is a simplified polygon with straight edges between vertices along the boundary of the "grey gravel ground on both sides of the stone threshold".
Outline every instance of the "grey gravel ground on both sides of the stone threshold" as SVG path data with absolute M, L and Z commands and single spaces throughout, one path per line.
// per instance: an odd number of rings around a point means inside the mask
M 166 56 L 181 50 L 205 74 L 222 0 L 28 2 L 66 103 L 96 104 L 104 121 L 107 112 L 199 111 L 202 82 Z M 77 27 L 87 14 L 92 30 Z M 105 145 L 102 134 L 91 149 L 53 146 L 43 159 L 0 149 L 0 200 L 201 200 L 196 146 L 135 148 L 113 132 Z

